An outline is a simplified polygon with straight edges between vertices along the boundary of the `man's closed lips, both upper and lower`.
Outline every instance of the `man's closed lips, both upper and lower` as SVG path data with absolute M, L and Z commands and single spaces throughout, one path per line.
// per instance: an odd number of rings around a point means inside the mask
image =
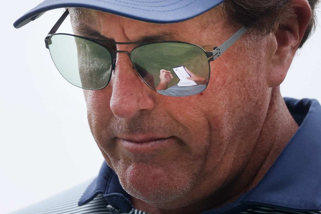
M 146 138 L 135 136 L 131 138 L 118 138 L 117 141 L 128 152 L 133 154 L 152 153 L 156 150 L 168 147 L 171 137 L 169 138 Z

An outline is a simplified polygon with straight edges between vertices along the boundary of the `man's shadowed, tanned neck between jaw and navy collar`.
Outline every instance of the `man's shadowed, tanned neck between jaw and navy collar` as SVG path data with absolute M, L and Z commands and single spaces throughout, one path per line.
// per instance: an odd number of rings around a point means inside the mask
M 235 201 L 239 196 L 256 186 L 298 128 L 299 126 L 284 103 L 279 87 L 275 87 L 271 91 L 264 124 L 256 137 L 253 155 L 237 179 L 204 200 L 175 210 L 158 209 L 134 197 L 131 202 L 135 209 L 149 214 L 197 214 L 220 208 Z

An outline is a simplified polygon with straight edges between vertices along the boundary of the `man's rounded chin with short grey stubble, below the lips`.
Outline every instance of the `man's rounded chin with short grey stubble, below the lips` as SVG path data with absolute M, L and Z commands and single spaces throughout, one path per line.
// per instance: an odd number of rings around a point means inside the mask
M 156 165 L 132 164 L 126 170 L 116 171 L 128 194 L 162 209 L 188 205 L 186 198 L 195 183 L 191 174 L 175 167 L 164 169 Z

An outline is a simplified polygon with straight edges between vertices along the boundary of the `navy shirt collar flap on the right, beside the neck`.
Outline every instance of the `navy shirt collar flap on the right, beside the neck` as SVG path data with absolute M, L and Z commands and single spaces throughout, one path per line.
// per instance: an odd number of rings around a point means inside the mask
M 321 106 L 285 99 L 300 125 L 263 179 L 241 203 L 309 211 L 321 209 Z

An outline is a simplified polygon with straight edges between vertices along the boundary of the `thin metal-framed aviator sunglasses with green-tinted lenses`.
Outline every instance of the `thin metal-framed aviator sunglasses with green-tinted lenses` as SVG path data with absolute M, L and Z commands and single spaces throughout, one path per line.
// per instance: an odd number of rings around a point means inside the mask
M 210 62 L 218 58 L 248 29 L 246 25 L 213 51 L 179 41 L 110 42 L 56 33 L 69 11 L 59 18 L 45 38 L 46 48 L 60 74 L 82 89 L 106 87 L 115 72 L 117 53 L 126 53 L 136 72 L 152 90 L 168 96 L 203 92 L 210 78 Z M 129 53 L 116 45 L 135 45 Z

